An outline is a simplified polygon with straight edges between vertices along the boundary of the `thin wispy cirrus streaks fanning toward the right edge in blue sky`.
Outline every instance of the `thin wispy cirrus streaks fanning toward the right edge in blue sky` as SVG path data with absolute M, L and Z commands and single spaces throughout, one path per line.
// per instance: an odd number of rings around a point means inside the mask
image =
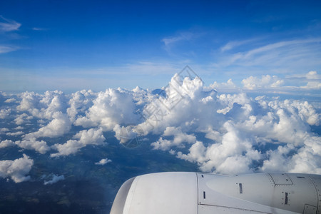
M 245 73 L 302 73 L 304 69 L 319 68 L 320 37 L 312 39 L 297 39 L 266 43 L 267 40 L 253 39 L 247 46 L 233 49 L 242 44 L 227 44 L 220 50 L 217 62 L 213 64 L 215 70 L 228 71 L 231 75 L 238 73 L 238 77 Z M 230 51 L 226 51 L 230 50 Z

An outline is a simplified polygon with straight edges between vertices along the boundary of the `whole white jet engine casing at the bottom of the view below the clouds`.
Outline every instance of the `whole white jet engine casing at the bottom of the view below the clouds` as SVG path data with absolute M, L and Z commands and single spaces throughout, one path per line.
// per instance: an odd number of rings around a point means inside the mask
M 153 173 L 127 180 L 111 214 L 321 214 L 321 175 Z

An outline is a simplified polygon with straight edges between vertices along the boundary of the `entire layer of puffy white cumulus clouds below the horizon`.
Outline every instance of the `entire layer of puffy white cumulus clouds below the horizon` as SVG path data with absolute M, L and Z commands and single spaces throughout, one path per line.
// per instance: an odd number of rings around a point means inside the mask
M 147 142 L 151 149 L 197 163 L 205 172 L 321 173 L 321 137 L 312 128 L 320 127 L 320 102 L 219 93 L 220 86 L 235 88 L 233 81 L 204 86 L 195 73 L 184 72 L 156 91 L 137 87 L 70 95 L 1 93 L 0 117 L 16 128 L 0 129 L 0 149 L 16 146 L 54 160 L 77 155 L 86 146 L 106 145 L 104 134 L 113 132 L 124 145 Z M 320 81 L 315 71 L 293 78 L 310 84 Z M 245 78 L 243 83 L 254 90 L 280 88 L 284 81 L 266 75 Z M 74 128 L 78 131 L 70 137 Z M 55 141 L 68 135 L 66 141 Z M 49 138 L 56 143 L 47 143 Z M 25 155 L 15 161 L 1 161 L 1 177 L 28 180 L 33 161 Z

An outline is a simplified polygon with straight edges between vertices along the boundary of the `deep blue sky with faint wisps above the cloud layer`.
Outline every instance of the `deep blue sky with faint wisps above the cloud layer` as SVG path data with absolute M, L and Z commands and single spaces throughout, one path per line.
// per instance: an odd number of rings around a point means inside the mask
M 321 1 L 1 1 L 0 91 L 159 88 L 189 65 L 217 88 L 320 93 L 320 11 Z

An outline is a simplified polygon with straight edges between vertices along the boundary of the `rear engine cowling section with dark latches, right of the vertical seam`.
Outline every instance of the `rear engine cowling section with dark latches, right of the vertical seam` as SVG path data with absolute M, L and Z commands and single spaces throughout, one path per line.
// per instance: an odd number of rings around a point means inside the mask
M 315 207 L 318 205 L 316 184 L 314 185 L 306 174 L 199 174 L 198 185 L 200 205 L 243 208 L 267 213 L 303 213 L 305 204 Z

